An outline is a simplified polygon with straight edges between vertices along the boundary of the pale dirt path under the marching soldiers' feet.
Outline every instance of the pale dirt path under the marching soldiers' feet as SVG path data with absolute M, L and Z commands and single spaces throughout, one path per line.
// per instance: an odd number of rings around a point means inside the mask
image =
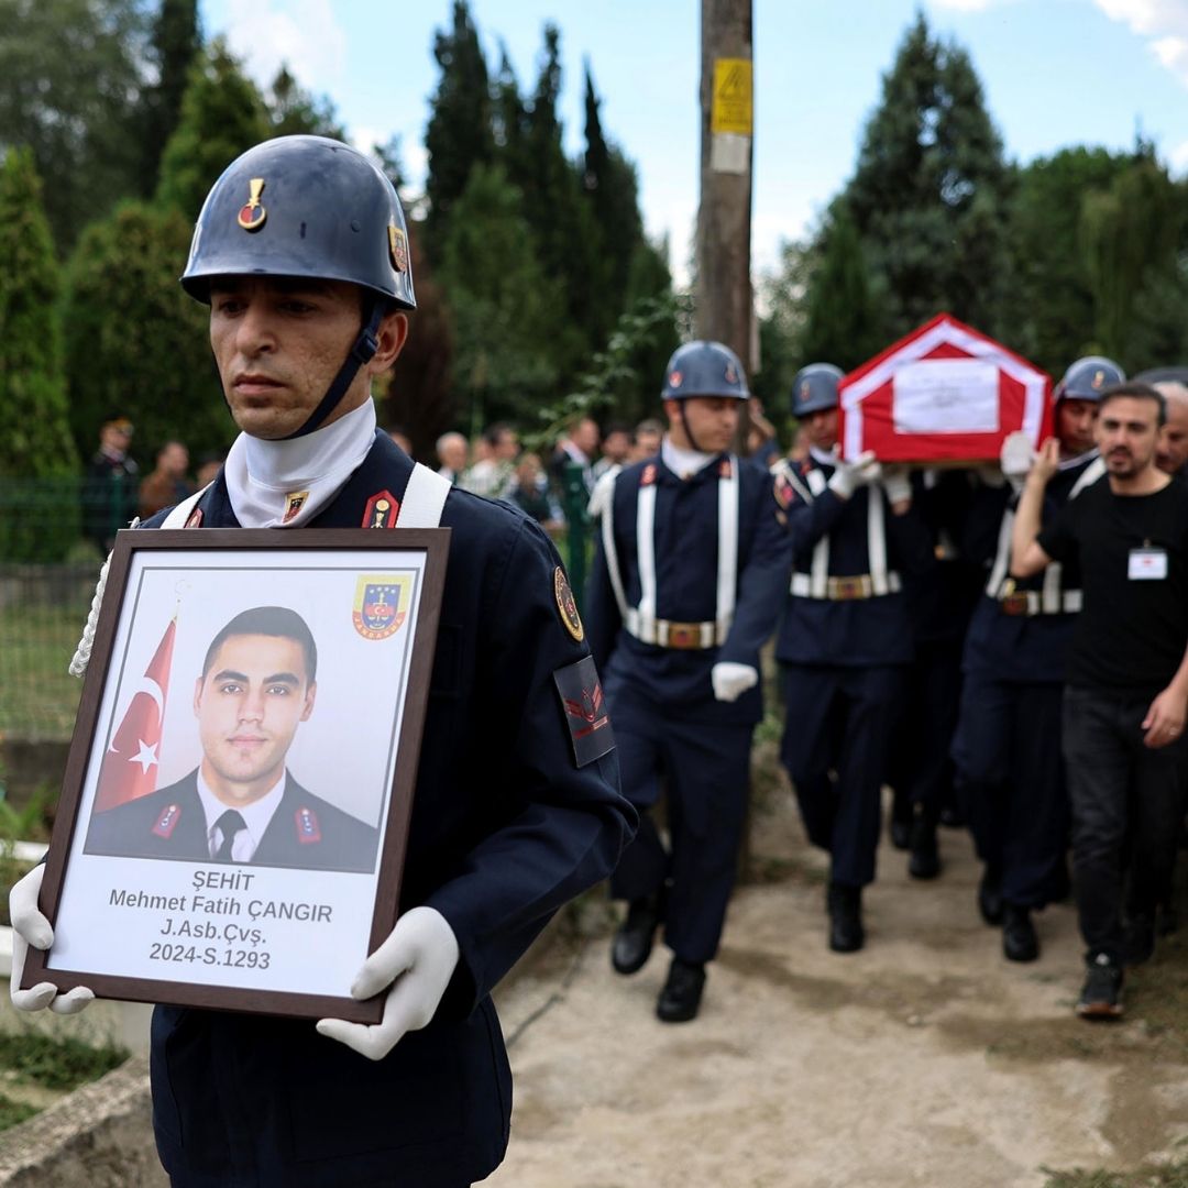
M 695 1022 L 655 1017 L 662 947 L 633 978 L 612 972 L 601 901 L 584 936 L 498 996 L 516 1106 L 487 1183 L 1041 1188 L 1045 1169 L 1133 1168 L 1188 1138 L 1188 1030 L 1157 1001 L 1184 982 L 1188 924 L 1130 977 L 1123 1023 L 1086 1023 L 1073 908 L 1037 917 L 1037 962 L 1007 962 L 968 836 L 944 829 L 930 883 L 884 842 L 867 946 L 833 954 L 823 858 L 786 786 L 767 800 L 763 881 L 732 904 Z

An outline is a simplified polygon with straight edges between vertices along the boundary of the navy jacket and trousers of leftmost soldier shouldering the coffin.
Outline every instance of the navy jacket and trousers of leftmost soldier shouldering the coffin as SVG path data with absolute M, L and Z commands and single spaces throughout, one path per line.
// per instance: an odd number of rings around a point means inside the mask
M 821 472 L 817 486 L 823 489 L 811 495 L 814 469 Z M 928 533 L 915 510 L 895 516 L 879 486 L 839 499 L 824 487 L 832 474 L 832 466 L 805 461 L 788 488 L 794 582 L 810 581 L 814 557 L 826 546 L 839 595 L 853 589 L 849 580 L 870 581 L 872 545 L 896 575 L 891 587 L 898 587 L 904 573 L 927 573 Z M 879 520 L 872 520 L 871 499 L 881 501 Z M 872 542 L 876 532 L 881 542 Z M 781 758 L 805 833 L 829 852 L 833 881 L 865 886 L 874 879 L 881 786 L 914 657 L 906 598 L 898 588 L 862 598 L 791 593 L 776 657 L 785 712 Z

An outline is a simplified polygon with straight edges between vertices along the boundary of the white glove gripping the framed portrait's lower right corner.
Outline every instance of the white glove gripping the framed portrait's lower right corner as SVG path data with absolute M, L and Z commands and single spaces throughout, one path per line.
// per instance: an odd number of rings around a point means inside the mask
M 457 965 L 457 937 L 435 908 L 413 908 L 397 922 L 388 939 L 364 962 L 350 997 L 371 998 L 385 986 L 379 1023 L 318 1019 L 317 1030 L 368 1060 L 383 1060 L 409 1031 L 419 1031 L 434 1017 Z

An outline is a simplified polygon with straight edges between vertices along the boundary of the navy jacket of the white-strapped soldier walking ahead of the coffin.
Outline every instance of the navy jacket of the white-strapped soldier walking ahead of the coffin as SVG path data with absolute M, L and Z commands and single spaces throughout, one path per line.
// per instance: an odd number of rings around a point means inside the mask
M 659 457 L 626 467 L 614 481 L 614 539 L 624 593 L 640 599 L 636 512 L 642 484 L 656 485 L 656 617 L 674 623 L 709 623 L 716 614 L 718 485 L 726 454 L 689 479 Z M 753 723 L 763 718 L 763 694 L 748 689 L 738 701 L 714 699 L 710 669 L 721 661 L 759 670 L 759 649 L 771 636 L 788 584 L 789 551 L 771 475 L 744 460 L 739 467 L 738 579 L 734 618 L 718 647 L 674 649 L 646 644 L 623 625 L 599 536 L 587 589 L 590 650 L 607 683 L 626 682 L 685 721 Z M 762 683 L 762 682 L 760 682 Z M 614 707 L 612 706 L 612 709 Z

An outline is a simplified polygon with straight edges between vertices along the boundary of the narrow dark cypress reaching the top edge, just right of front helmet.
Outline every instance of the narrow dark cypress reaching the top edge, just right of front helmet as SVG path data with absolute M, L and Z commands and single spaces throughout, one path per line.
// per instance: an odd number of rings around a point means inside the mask
M 425 129 L 430 255 L 441 251 L 453 206 L 462 196 L 470 170 L 489 164 L 495 152 L 487 61 L 466 0 L 454 0 L 453 27 L 449 32 L 438 30 L 434 57 L 442 74 Z

